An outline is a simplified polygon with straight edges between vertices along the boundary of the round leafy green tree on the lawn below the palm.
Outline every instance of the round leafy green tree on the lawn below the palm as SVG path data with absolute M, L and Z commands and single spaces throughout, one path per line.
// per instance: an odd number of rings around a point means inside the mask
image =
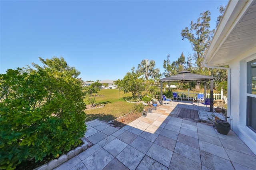
M 124 93 L 132 92 L 132 96 L 141 95 L 142 91 L 145 89 L 144 79 L 141 76 L 141 73 L 136 73 L 132 67 L 132 71 L 126 73 L 123 79 L 118 79 L 115 81 L 118 89 L 124 91 Z

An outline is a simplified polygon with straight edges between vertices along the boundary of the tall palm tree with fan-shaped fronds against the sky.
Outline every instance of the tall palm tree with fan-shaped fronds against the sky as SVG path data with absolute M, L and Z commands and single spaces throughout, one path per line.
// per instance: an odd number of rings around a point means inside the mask
M 140 64 L 138 64 L 138 69 L 136 70 L 136 72 L 144 74 L 146 80 L 148 80 L 148 77 L 155 77 L 160 72 L 160 69 L 158 68 L 154 69 L 155 65 L 156 65 L 156 61 L 154 60 L 149 61 L 148 59 L 144 59 L 141 61 Z

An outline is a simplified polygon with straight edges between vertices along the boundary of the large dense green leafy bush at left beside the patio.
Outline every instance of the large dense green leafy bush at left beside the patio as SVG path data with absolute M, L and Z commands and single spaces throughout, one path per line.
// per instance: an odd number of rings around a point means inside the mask
M 81 82 L 44 67 L 0 74 L 0 169 L 57 158 L 86 131 Z

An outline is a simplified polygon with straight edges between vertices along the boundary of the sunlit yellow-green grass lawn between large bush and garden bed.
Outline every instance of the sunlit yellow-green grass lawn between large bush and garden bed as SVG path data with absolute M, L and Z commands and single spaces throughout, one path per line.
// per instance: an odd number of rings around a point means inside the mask
M 86 121 L 99 119 L 102 121 L 111 121 L 131 112 L 134 103 L 128 103 L 123 98 L 132 96 L 132 93 L 124 94 L 117 89 L 102 89 L 97 94 L 96 103 L 103 104 L 105 107 L 86 110 Z

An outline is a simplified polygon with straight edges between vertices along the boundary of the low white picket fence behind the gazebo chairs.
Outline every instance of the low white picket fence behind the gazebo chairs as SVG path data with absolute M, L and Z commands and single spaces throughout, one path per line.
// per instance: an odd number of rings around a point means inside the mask
M 188 89 L 188 92 L 176 92 L 176 91 L 173 91 L 173 92 L 177 93 L 179 98 L 181 97 L 182 100 L 187 99 L 188 101 L 193 100 L 198 94 L 204 94 L 203 92 L 200 92 L 200 93 L 190 92 L 189 89 Z M 210 98 L 210 93 L 206 93 L 205 98 Z M 213 93 L 213 98 L 214 100 L 223 99 L 223 92 L 218 94 Z

